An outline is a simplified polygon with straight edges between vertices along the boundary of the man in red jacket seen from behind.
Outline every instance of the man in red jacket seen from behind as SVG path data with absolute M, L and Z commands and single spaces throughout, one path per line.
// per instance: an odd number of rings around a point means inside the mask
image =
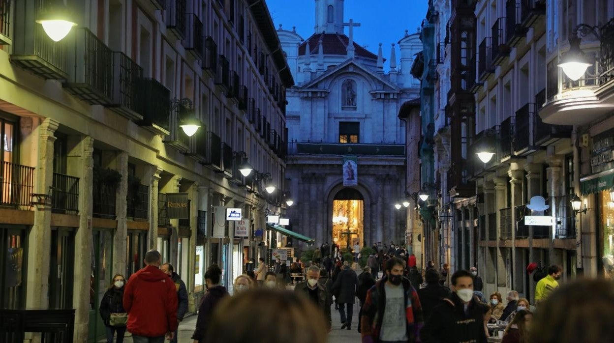
M 157 250 L 145 254 L 147 266 L 132 274 L 123 292 L 128 312 L 128 331 L 134 343 L 163 343 L 177 330 L 177 290 L 171 278 L 160 270 Z

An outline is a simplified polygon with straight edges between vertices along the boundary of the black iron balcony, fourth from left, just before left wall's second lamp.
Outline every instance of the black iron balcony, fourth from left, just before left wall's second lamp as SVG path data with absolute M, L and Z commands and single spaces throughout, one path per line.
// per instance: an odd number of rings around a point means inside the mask
M 143 119 L 141 126 L 152 127 L 157 131 L 162 129 L 168 134 L 170 128 L 171 91 L 156 79 L 138 80 L 139 100 L 137 111 Z

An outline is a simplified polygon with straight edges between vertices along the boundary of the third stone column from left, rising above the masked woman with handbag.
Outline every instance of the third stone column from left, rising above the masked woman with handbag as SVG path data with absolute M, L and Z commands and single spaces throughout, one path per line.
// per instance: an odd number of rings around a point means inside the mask
M 126 236 L 128 225 L 128 152 L 119 152 L 115 158 L 115 168 L 122 174 L 122 180 L 115 193 L 115 215 L 117 218 L 117 230 L 113 235 L 113 272 L 114 274 L 126 271 Z

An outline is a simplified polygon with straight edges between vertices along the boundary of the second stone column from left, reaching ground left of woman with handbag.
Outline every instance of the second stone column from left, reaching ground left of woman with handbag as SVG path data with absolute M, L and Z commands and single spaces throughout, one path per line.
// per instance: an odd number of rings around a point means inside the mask
M 71 160 L 69 166 L 76 168 L 71 174 L 79 179 L 79 229 L 75 235 L 75 269 L 74 269 L 74 293 L 72 306 L 75 312 L 75 342 L 86 342 L 88 322 L 90 317 L 90 277 L 91 277 L 91 211 L 93 188 L 93 165 L 92 153 L 94 151 L 94 139 L 83 137 L 74 150 L 69 152 Z M 124 250 L 125 252 L 125 250 Z M 123 266 L 125 270 L 125 266 Z

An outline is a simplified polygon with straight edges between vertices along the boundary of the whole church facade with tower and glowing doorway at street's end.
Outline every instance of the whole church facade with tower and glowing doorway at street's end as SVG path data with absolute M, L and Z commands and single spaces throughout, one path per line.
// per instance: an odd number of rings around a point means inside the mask
M 315 4 L 312 36 L 278 30 L 297 83 L 287 90 L 286 109 L 291 228 L 316 245 L 405 242 L 410 209 L 395 204 L 405 196 L 406 168 L 419 167 L 406 166 L 398 114 L 419 97 L 410 69 L 422 43 L 406 31 L 386 61 L 381 44 L 375 54 L 354 42 L 360 23 L 344 22 L 343 0 Z

